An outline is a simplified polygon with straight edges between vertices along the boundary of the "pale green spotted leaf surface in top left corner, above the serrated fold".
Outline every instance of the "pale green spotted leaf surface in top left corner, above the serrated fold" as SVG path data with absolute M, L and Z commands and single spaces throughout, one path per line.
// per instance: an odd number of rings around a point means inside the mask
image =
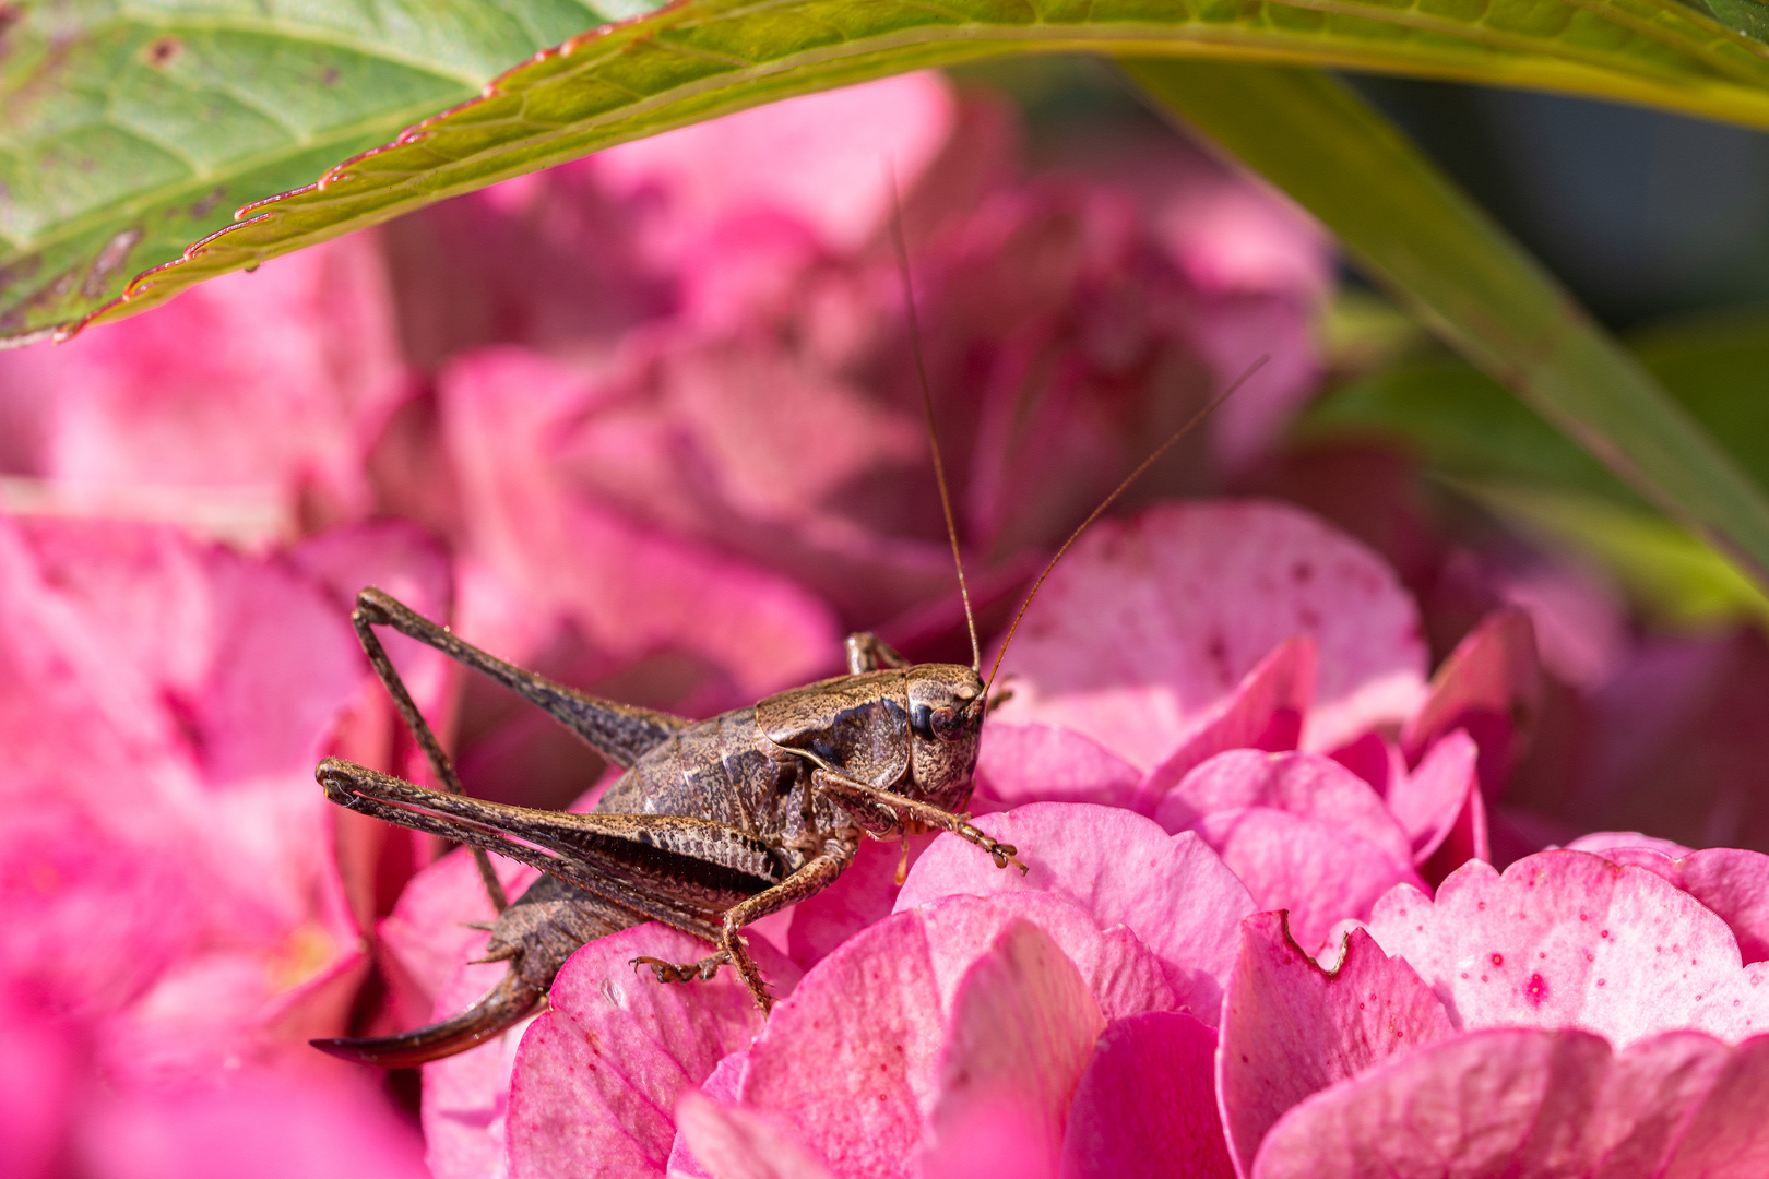
M 0 338 L 78 322 L 235 207 L 311 184 L 617 14 L 577 0 L 0 7 Z

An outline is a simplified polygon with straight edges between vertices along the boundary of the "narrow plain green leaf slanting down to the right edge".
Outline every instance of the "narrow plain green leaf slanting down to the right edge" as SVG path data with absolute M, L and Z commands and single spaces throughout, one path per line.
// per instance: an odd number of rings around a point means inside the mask
M 1762 488 L 1367 103 L 1316 71 L 1153 60 L 1129 69 L 1332 228 L 1445 343 L 1765 580 Z

